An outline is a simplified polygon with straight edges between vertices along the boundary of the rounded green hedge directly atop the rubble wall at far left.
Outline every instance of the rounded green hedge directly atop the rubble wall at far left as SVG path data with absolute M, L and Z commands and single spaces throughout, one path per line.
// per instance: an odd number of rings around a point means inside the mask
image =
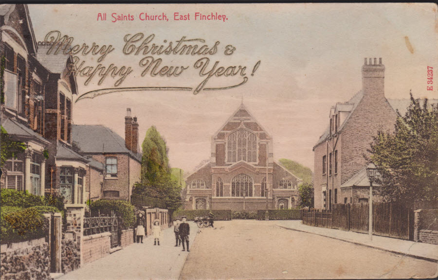
M 39 210 L 32 207 L 8 212 L 4 215 L 2 224 L 4 228 L 2 226 L 1 243 L 40 238 L 45 236 L 47 231 L 46 219 Z

